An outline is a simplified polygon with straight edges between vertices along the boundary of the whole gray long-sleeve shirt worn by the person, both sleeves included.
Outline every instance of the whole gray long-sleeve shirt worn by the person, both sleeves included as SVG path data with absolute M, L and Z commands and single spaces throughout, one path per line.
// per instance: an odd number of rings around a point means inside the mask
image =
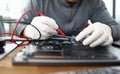
M 74 5 L 70 5 L 66 0 L 29 0 L 25 11 L 28 9 L 38 9 L 44 15 L 53 18 L 66 35 L 77 35 L 90 19 L 93 23 L 109 25 L 113 39 L 120 39 L 120 25 L 110 16 L 102 0 L 80 0 Z M 35 16 L 39 15 L 32 11 L 26 14 L 22 21 L 30 23 Z M 17 33 L 21 34 L 25 26 L 18 25 Z

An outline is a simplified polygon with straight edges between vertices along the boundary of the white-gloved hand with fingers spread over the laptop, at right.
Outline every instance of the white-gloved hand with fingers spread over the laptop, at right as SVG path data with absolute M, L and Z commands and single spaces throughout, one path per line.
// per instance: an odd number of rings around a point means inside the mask
M 80 32 L 76 41 L 83 40 L 83 45 L 89 45 L 90 47 L 106 46 L 113 42 L 111 33 L 111 28 L 108 25 L 97 22 Z

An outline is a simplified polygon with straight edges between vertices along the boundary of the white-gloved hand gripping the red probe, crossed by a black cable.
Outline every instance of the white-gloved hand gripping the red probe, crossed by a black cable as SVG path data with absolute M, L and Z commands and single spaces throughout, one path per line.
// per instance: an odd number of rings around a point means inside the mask
M 47 16 L 34 17 L 31 25 L 28 25 L 24 30 L 24 35 L 32 39 L 47 39 L 52 35 L 56 35 L 58 25 L 55 20 Z M 39 33 L 40 32 L 40 33 Z

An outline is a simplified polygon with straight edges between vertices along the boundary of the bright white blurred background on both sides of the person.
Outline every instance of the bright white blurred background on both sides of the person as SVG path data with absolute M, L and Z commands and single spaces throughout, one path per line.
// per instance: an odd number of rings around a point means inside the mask
M 26 5 L 27 1 L 28 0 L 0 0 L 0 19 L 6 19 L 4 20 L 6 32 L 12 31 L 13 24 L 9 21 L 14 22 L 14 20 L 21 16 L 21 9 Z M 104 2 L 111 16 L 120 23 L 120 0 L 104 0 Z

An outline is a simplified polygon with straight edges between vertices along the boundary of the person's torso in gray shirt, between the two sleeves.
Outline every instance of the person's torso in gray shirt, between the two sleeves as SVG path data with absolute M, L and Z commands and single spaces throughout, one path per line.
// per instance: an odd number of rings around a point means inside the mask
M 74 6 L 65 0 L 43 0 L 42 12 L 53 18 L 66 35 L 76 35 L 87 23 L 90 6 L 87 0 L 81 0 Z

